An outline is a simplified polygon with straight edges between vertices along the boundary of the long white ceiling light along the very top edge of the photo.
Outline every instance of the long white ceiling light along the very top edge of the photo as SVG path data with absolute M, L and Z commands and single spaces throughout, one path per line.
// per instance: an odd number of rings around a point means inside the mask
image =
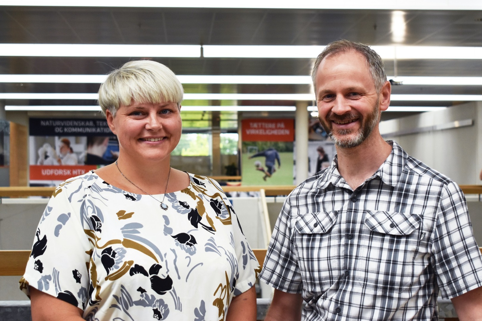
M 481 10 L 479 0 L 458 1 L 272 1 L 272 0 L 2 0 L 2 6 L 35 6 L 35 7 L 129 7 L 129 8 L 259 8 L 259 9 L 392 9 L 392 10 Z

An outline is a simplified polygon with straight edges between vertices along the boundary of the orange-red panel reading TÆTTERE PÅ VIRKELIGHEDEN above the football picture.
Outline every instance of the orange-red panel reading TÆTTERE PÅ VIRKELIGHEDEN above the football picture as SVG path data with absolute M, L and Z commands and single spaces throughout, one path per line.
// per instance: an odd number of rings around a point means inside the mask
M 294 119 L 243 119 L 243 141 L 294 141 Z

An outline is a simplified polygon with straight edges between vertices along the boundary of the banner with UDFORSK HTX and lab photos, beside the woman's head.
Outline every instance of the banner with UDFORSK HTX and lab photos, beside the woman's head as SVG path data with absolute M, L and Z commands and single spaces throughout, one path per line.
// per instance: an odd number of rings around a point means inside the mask
M 30 118 L 29 132 L 30 186 L 56 186 L 119 154 L 105 119 Z

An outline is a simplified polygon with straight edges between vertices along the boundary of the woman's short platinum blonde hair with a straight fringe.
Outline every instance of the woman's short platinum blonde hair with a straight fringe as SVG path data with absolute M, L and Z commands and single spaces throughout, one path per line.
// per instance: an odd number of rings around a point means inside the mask
M 184 90 L 171 69 L 150 60 L 135 60 L 123 64 L 107 76 L 100 85 L 99 105 L 104 115 L 108 110 L 116 115 L 121 105 L 135 103 L 177 103 Z

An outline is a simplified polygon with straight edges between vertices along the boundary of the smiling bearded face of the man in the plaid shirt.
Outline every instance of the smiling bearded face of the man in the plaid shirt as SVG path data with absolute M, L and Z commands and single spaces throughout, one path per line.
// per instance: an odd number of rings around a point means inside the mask
M 348 51 L 325 58 L 315 93 L 321 126 L 336 146 L 359 146 L 378 130 L 380 97 L 362 54 Z

